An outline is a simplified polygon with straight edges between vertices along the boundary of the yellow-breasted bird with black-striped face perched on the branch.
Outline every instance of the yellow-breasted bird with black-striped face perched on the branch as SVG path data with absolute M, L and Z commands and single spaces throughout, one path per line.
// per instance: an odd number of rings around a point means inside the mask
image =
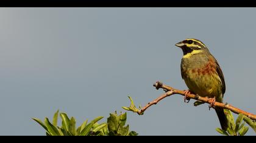
M 176 44 L 183 51 L 181 75 L 190 91 L 202 97 L 222 102 L 226 85 L 224 75 L 214 56 L 204 43 L 197 39 L 185 39 Z M 187 96 L 185 96 L 185 99 Z M 223 108 L 215 107 L 222 130 L 227 130 L 227 117 Z

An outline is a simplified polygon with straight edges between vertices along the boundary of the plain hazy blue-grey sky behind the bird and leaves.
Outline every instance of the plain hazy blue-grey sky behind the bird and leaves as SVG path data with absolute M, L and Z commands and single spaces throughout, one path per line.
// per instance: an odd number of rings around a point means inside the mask
M 45 135 L 32 117 L 57 109 L 80 125 L 146 105 L 155 81 L 187 89 L 180 76 L 185 38 L 204 42 L 226 79 L 224 101 L 255 113 L 255 8 L 0 8 L 0 135 Z M 219 135 L 214 110 L 171 96 L 143 116 L 139 135 Z M 101 121 L 101 122 L 102 122 Z M 249 129 L 247 135 L 255 135 Z

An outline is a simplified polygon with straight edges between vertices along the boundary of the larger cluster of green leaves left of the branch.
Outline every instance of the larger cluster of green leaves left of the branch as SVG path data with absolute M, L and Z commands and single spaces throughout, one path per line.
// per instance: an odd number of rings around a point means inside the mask
M 62 125 L 58 126 L 58 118 L 62 119 Z M 48 118 L 44 118 L 44 122 L 40 119 L 32 118 L 46 130 L 47 136 L 136 136 L 138 133 L 129 131 L 129 125 L 126 125 L 126 113 L 117 115 L 110 113 L 107 122 L 98 123 L 103 117 L 99 116 L 88 122 L 88 119 L 76 128 L 76 119 L 68 118 L 66 113 L 54 114 L 52 122 Z

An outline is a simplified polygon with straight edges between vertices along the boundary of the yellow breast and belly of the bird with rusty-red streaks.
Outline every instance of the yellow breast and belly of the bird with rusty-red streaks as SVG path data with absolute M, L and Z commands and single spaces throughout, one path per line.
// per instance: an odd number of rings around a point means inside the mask
M 200 58 L 200 57 L 199 57 Z M 221 79 L 216 72 L 213 59 L 187 59 L 181 68 L 188 88 L 200 96 L 212 98 L 221 93 Z

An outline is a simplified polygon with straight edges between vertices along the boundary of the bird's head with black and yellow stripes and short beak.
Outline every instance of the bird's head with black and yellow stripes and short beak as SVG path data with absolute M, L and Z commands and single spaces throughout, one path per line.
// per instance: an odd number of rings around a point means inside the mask
M 197 39 L 188 38 L 181 42 L 175 44 L 177 47 L 182 48 L 183 55 L 187 55 L 188 53 L 199 53 L 199 52 L 209 52 L 208 48 L 205 46 L 203 42 Z

